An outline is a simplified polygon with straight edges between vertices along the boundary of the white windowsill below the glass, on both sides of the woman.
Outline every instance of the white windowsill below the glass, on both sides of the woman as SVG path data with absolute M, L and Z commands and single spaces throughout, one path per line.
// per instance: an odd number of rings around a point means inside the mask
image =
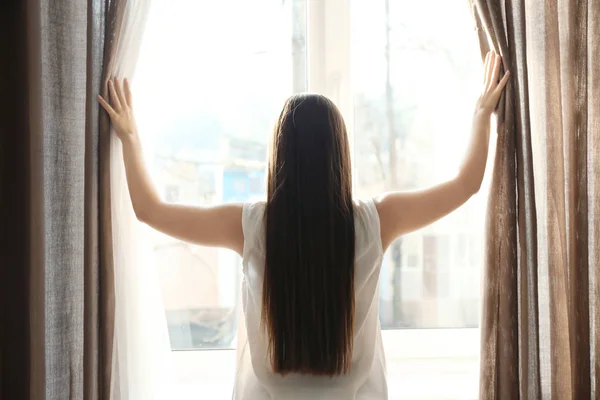
M 390 400 L 476 399 L 479 329 L 383 331 Z M 171 398 L 231 398 L 235 350 L 174 351 Z

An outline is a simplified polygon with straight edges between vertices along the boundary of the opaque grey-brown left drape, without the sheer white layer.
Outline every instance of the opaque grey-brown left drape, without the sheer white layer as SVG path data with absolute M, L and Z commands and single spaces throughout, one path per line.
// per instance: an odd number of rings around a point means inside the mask
M 105 4 L 2 3 L 2 398 L 109 395 L 114 285 L 95 99 Z

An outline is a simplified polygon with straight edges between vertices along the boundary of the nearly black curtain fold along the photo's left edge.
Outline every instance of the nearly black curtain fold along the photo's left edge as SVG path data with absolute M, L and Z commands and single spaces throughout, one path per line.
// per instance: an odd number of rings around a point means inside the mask
M 26 4 L 0 12 L 0 398 L 29 398 Z M 12 38 L 5 40 L 4 38 Z M 19 173 L 19 171 L 22 171 Z

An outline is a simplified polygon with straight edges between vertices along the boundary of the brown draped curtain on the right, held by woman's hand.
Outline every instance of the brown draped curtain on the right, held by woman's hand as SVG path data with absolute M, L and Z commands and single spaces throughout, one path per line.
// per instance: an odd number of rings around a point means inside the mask
M 600 395 L 600 2 L 473 2 L 511 80 L 486 217 L 481 399 Z

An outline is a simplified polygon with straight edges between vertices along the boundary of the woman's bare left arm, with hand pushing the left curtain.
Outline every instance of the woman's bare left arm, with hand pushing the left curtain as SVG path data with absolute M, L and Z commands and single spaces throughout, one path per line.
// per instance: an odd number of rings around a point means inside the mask
M 146 169 L 129 83 L 109 81 L 111 103 L 98 101 L 109 114 L 123 144 L 123 161 L 129 196 L 138 220 L 169 236 L 203 246 L 224 247 L 242 254 L 242 206 L 194 207 L 169 204 L 161 200 Z

